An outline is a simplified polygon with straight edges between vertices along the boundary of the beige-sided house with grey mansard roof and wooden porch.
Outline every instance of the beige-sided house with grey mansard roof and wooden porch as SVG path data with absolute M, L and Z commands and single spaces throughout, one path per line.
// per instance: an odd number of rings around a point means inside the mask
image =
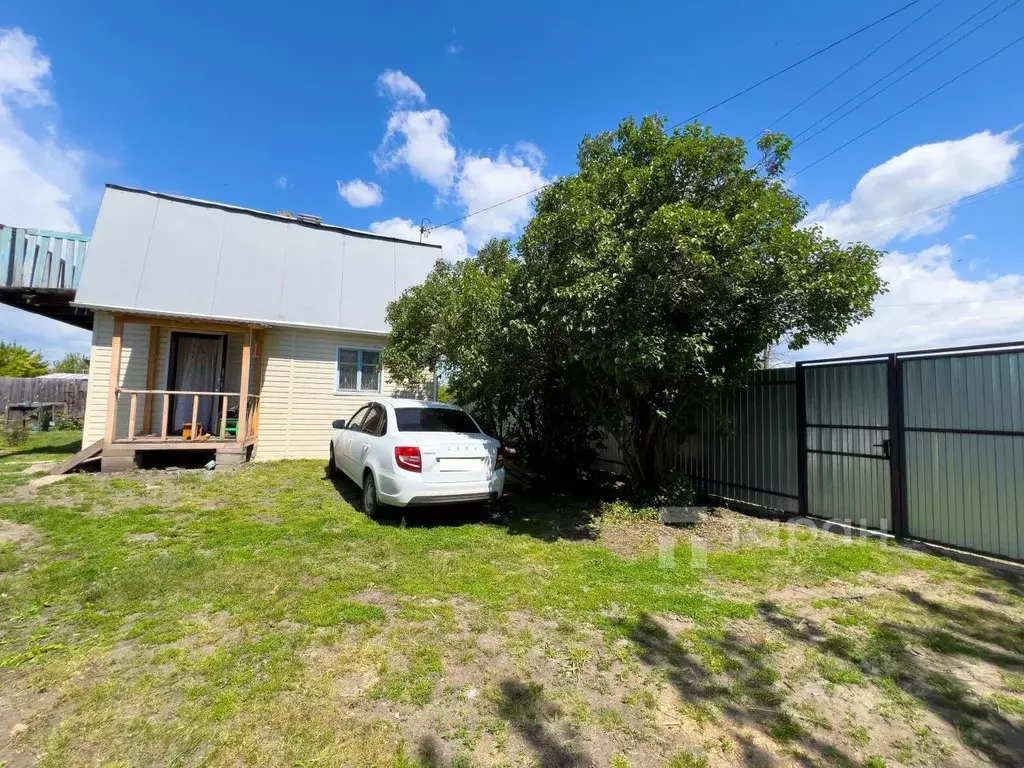
M 74 299 L 93 315 L 83 445 L 102 446 L 104 470 L 170 450 L 218 466 L 326 458 L 333 420 L 398 393 L 381 367 L 385 308 L 440 256 L 108 184 Z

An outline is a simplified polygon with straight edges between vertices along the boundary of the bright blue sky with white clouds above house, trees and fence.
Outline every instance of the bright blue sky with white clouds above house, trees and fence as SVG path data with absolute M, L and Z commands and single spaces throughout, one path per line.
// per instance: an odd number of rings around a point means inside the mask
M 89 231 L 113 181 L 413 234 L 571 173 L 585 133 L 685 120 L 904 2 L 0 3 L 0 221 Z M 985 4 L 921 0 L 702 119 L 755 135 L 925 14 L 776 126 L 796 133 L 1008 8 L 797 147 L 799 170 L 1024 34 L 1014 0 L 964 24 Z M 794 179 L 826 231 L 890 251 L 876 317 L 808 353 L 1024 338 L 1024 183 L 984 193 L 1022 172 L 1022 76 L 1024 43 Z M 458 258 L 528 212 L 432 238 Z M 7 309 L 0 336 L 87 346 Z

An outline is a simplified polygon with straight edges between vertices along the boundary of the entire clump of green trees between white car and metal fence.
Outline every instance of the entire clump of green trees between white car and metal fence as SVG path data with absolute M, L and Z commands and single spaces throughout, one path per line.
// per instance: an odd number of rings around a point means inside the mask
M 590 136 L 513 254 L 495 241 L 438 262 L 388 311 L 399 380 L 438 370 L 523 457 L 586 464 L 614 437 L 642 488 L 703 410 L 785 343 L 835 341 L 870 313 L 881 253 L 801 222 L 782 181 L 791 142 L 742 139 L 658 117 Z

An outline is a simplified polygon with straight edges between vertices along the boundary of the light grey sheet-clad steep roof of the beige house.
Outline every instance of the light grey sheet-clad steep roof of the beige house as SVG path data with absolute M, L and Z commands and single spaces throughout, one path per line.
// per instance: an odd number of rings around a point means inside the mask
M 425 243 L 108 184 L 75 303 L 384 334 L 388 302 L 440 256 Z

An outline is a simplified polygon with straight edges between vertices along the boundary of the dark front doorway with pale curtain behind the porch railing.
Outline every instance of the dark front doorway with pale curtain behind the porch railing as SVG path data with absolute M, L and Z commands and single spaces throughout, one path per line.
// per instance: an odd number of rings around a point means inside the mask
M 167 388 L 178 392 L 220 392 L 224 384 L 224 361 L 227 337 L 223 334 L 171 333 Z M 211 434 L 217 433 L 221 398 L 199 398 L 196 421 Z M 195 398 L 187 394 L 172 396 L 167 425 L 171 434 L 181 434 L 182 427 L 191 424 Z

